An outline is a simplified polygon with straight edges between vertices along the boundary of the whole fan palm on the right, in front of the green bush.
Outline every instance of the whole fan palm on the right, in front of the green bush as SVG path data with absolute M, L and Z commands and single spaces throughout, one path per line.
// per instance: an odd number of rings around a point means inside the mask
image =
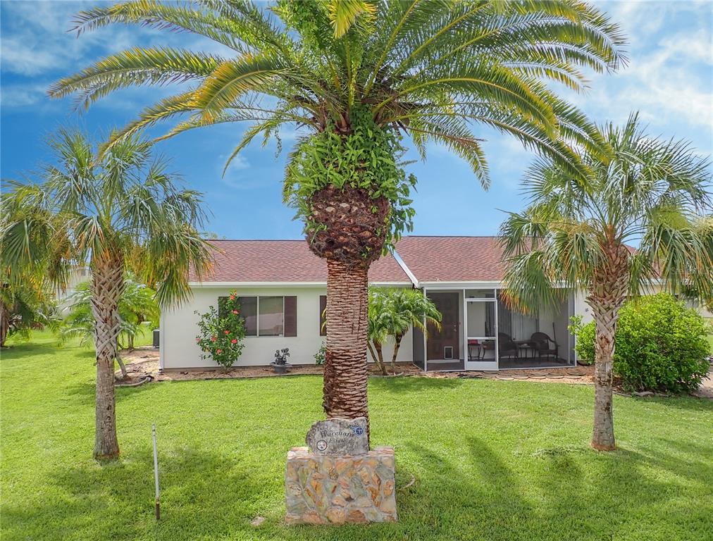
M 530 205 L 508 217 L 501 235 L 513 302 L 532 310 L 560 299 L 562 287 L 586 292 L 596 325 L 592 446 L 611 450 L 619 309 L 654 284 L 712 298 L 713 217 L 707 158 L 685 142 L 650 137 L 637 115 L 602 133 L 612 153 L 585 154 L 588 182 L 546 161 L 528 171 Z

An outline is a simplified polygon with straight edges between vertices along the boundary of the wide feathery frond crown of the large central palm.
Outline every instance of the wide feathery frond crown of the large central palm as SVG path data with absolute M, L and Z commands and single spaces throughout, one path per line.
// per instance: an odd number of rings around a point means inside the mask
M 229 52 L 133 48 L 51 87 L 51 96 L 76 94 L 88 106 L 118 88 L 188 83 L 112 142 L 162 120 L 182 118 L 166 136 L 252 122 L 235 156 L 257 135 L 279 137 L 284 123 L 307 135 L 348 134 L 354 111 L 365 109 L 376 127 L 409 135 L 424 157 L 429 141 L 447 145 L 484 185 L 478 124 L 583 172 L 566 143 L 593 152 L 605 145 L 547 83 L 580 91 L 587 83 L 581 68 L 613 70 L 624 60 L 617 26 L 571 0 L 280 0 L 270 9 L 243 0 L 128 1 L 82 11 L 75 30 L 113 23 L 188 31 Z

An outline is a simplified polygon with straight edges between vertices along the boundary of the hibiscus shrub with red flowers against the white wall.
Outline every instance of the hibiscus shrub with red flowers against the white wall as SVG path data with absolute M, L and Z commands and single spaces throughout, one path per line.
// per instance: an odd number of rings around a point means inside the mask
M 195 312 L 198 314 L 198 311 Z M 201 359 L 213 359 L 220 366 L 229 369 L 242 353 L 245 339 L 245 321 L 240 315 L 237 293 L 218 299 L 218 309 L 210 306 L 205 314 L 199 314 L 199 334 L 195 337 L 203 351 Z

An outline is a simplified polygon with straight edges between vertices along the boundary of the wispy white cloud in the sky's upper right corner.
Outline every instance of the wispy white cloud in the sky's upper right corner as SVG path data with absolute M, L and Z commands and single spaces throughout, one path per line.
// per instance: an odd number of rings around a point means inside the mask
M 597 75 L 573 101 L 597 121 L 621 123 L 633 110 L 662 133 L 687 137 L 713 124 L 713 4 L 673 1 L 601 4 L 630 38 L 630 61 Z M 702 144 L 710 142 L 702 141 Z

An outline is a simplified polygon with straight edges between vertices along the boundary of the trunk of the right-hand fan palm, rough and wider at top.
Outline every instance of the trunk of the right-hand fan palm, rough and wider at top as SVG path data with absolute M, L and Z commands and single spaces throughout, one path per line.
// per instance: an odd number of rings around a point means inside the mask
M 621 244 L 607 247 L 607 262 L 595 269 L 593 289 L 587 297 L 595 321 L 594 429 L 592 447 L 614 450 L 612 383 L 615 335 L 619 309 L 628 290 L 629 252 Z

